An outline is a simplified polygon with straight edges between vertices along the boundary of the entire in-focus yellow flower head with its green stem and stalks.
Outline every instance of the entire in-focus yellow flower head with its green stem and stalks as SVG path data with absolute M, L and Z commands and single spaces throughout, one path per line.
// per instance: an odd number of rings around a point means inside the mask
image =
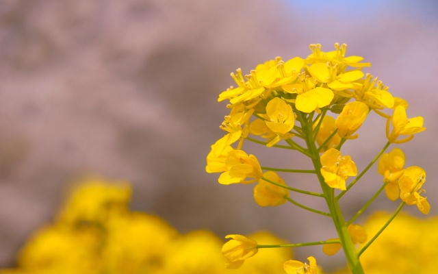
M 229 268 L 242 265 L 246 258 L 255 256 L 259 248 L 322 245 L 327 255 L 342 248 L 350 271 L 365 273 L 359 256 L 400 210 L 368 243 L 365 243 L 368 238 L 365 229 L 352 222 L 383 190 L 392 201 L 400 197 L 402 205 L 416 205 L 424 214 L 430 210 L 426 197 L 421 196 L 425 191 L 422 189 L 426 182 L 424 170 L 417 166 L 404 169 L 401 149 L 383 154 L 389 145 L 408 142 L 414 134 L 424 131 L 422 117 L 407 119 L 407 102 L 393 97 L 377 77 L 365 75 L 362 69 L 370 63 L 361 62 L 363 58 L 360 56 L 346 56 L 345 44 L 336 43 L 335 51 L 329 52 L 321 51 L 321 45 L 310 45 L 310 49 L 311 54 L 304 59 L 296 57 L 283 61 L 277 57 L 259 64 L 248 75 L 243 75 L 241 69 L 231 73 L 237 87 L 224 90 L 218 98 L 218 101 L 229 100 L 227 108 L 231 112 L 220 126 L 227 134 L 211 146 L 205 169 L 208 173 L 221 173 L 220 184 L 257 182 L 254 198 L 259 206 L 280 206 L 289 201 L 299 208 L 333 219 L 337 236 L 319 242 L 257 245 L 244 236 L 233 235 L 233 240 L 222 249 Z M 387 119 L 383 130 L 388 140 L 358 175 L 352 160 L 354 157 L 344 155 L 342 145 L 347 141 L 358 143 L 355 140 L 359 137 L 357 131 L 372 112 Z M 312 166 L 305 170 L 262 166 L 255 155 L 244 151 L 245 140 L 266 146 L 272 153 L 276 149 L 288 149 L 290 153 L 309 158 Z M 346 219 L 339 199 L 370 171 L 381 155 L 378 173 L 384 176 L 383 186 L 376 186 L 376 194 L 355 216 Z M 308 173 L 321 191 L 294 188 L 281 178 L 279 173 L 284 172 Z M 348 183 L 349 177 L 355 179 Z M 311 199 L 325 199 L 329 212 L 296 202 L 289 197 L 290 191 L 309 195 Z M 365 243 L 359 252 L 355 246 L 358 243 Z M 319 272 L 313 257 L 309 257 L 309 264 L 292 260 L 285 262 L 284 269 L 287 273 Z

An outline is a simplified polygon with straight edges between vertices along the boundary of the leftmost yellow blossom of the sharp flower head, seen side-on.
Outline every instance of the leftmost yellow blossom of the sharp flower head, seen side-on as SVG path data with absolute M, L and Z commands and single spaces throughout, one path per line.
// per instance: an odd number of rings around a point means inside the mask
M 207 171 L 207 173 L 228 170 L 225 161 L 227 160 L 228 153 L 234 150 L 233 147 L 231 147 L 231 144 L 239 140 L 241 135 L 242 132 L 227 134 L 216 141 L 214 145 L 211 145 L 211 151 L 207 155 L 207 166 L 205 166 L 205 171 Z

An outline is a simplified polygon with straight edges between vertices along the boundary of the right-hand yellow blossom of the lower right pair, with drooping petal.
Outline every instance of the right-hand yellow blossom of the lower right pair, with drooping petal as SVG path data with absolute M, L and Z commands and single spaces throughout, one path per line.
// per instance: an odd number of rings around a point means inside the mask
M 425 182 L 426 172 L 418 166 L 409 166 L 398 179 L 400 199 L 408 206 L 417 205 L 418 210 L 423 214 L 428 214 L 430 205 L 427 198 L 420 196 L 422 192 L 426 192 L 424 189 L 420 189 Z

